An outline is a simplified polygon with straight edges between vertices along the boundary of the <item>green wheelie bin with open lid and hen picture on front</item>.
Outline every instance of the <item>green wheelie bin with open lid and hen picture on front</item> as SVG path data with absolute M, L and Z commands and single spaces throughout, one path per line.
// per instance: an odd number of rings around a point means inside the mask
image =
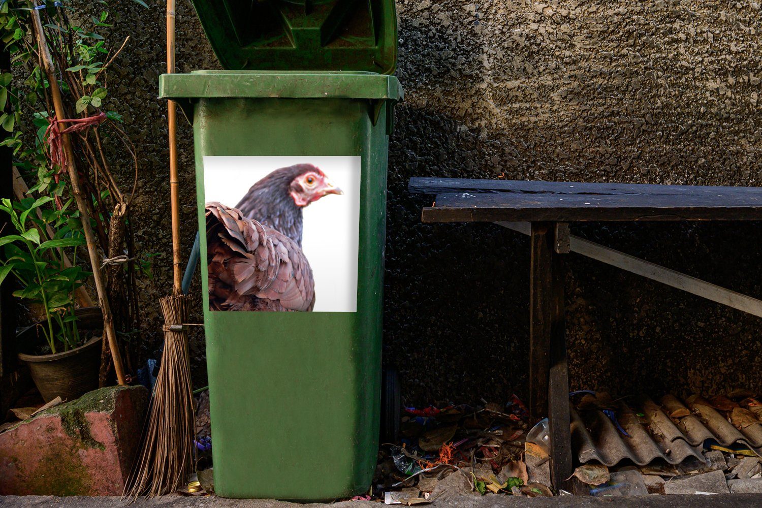
M 362 494 L 402 98 L 393 0 L 194 6 L 228 70 L 162 75 L 159 94 L 194 129 L 216 494 Z

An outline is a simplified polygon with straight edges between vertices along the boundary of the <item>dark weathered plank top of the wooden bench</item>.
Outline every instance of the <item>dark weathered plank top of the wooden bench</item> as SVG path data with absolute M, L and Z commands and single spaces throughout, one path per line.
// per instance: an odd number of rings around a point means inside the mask
M 423 222 L 762 220 L 762 187 L 411 178 Z

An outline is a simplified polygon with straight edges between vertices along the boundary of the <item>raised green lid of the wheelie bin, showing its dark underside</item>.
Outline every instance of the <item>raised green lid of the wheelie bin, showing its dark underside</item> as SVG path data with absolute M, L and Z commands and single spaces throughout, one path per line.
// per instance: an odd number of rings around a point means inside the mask
M 397 65 L 394 0 L 193 0 L 225 69 L 368 71 Z

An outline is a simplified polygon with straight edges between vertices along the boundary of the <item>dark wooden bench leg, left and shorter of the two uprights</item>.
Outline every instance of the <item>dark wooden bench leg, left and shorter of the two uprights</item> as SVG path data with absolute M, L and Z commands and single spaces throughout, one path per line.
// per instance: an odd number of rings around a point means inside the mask
M 552 303 L 552 229 L 532 222 L 529 327 L 530 425 L 548 415 Z

